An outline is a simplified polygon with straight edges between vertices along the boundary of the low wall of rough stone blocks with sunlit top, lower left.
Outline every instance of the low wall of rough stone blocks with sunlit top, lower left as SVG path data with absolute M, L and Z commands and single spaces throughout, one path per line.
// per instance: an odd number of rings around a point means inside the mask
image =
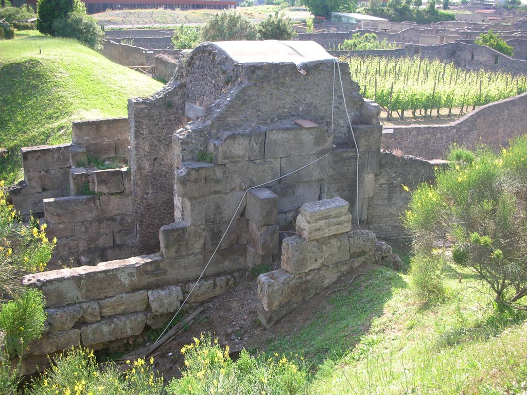
M 112 348 L 162 327 L 194 285 L 180 274 L 169 260 L 153 254 L 26 275 L 23 285 L 43 292 L 47 312 L 44 335 L 30 345 L 27 358 L 38 361 L 79 344 Z M 221 275 L 200 281 L 189 305 L 224 292 L 234 280 Z M 26 365 L 26 373 L 34 371 Z

